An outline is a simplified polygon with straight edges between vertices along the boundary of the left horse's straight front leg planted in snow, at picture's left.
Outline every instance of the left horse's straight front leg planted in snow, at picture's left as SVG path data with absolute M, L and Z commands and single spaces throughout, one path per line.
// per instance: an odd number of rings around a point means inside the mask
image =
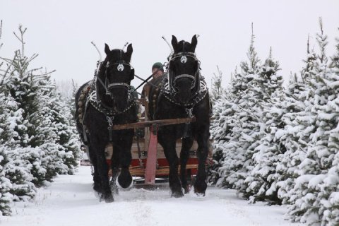
M 108 179 L 108 166 L 106 162 L 105 156 L 105 146 L 106 142 L 91 142 L 93 143 L 93 147 L 95 147 L 95 151 L 97 153 L 97 172 L 99 174 L 101 180 L 101 200 L 105 200 L 106 203 L 110 203 L 114 201 L 112 196 L 111 188 L 109 186 Z

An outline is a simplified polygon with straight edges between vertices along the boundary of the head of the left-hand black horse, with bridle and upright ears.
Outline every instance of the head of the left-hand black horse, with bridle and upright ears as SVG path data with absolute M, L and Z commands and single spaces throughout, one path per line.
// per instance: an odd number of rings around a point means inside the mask
M 110 50 L 105 44 L 106 58 L 97 74 L 97 100 L 106 109 L 123 112 L 133 100 L 131 80 L 134 69 L 130 61 L 133 52 L 132 44 L 127 51 L 122 49 Z

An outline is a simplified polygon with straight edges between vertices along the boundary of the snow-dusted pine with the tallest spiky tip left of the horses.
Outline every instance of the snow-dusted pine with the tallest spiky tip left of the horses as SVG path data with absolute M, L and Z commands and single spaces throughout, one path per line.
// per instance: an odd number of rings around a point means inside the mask
M 73 146 L 71 144 L 73 141 L 66 141 L 69 135 L 64 136 L 68 132 L 62 131 L 71 118 L 62 116 L 64 111 L 59 112 L 62 104 L 57 103 L 59 100 L 55 98 L 55 92 L 53 93 L 55 85 L 50 79 L 50 73 L 53 71 L 43 73 L 40 72 L 41 68 L 30 69 L 30 62 L 37 57 L 37 54 L 33 54 L 30 58 L 25 56 L 23 41 L 25 31 L 26 29 L 20 26 L 19 35 L 15 33 L 22 46 L 15 52 L 15 57 L 2 58 L 8 65 L 4 85 L 8 93 L 18 102 L 18 107 L 23 109 L 23 119 L 28 121 L 25 124 L 28 139 L 20 142 L 21 147 L 27 147 L 22 150 L 25 153 L 22 158 L 32 165 L 31 173 L 34 177 L 32 182 L 41 186 L 45 180 L 51 180 L 58 173 L 73 172 L 76 160 L 72 160 L 71 150 L 65 150 L 65 147 Z M 55 109 L 57 106 L 59 109 Z M 58 143 L 59 141 L 62 144 Z M 67 153 L 68 151 L 70 152 Z M 65 165 L 64 160 L 70 168 Z

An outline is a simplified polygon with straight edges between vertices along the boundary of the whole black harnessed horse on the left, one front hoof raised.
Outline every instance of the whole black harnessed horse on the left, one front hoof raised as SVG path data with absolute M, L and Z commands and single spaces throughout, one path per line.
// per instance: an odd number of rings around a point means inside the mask
M 105 147 L 113 144 L 112 183 L 115 179 L 123 188 L 131 185 L 129 173 L 133 129 L 114 131 L 114 124 L 135 122 L 136 102 L 131 89 L 134 69 L 130 65 L 132 45 L 127 51 L 109 50 L 105 44 L 106 58 L 99 65 L 95 80 L 85 83 L 76 93 L 76 124 L 83 143 L 88 147 L 94 167 L 93 189 L 100 201 L 114 201 L 109 184 Z M 119 174 L 119 177 L 118 177 Z

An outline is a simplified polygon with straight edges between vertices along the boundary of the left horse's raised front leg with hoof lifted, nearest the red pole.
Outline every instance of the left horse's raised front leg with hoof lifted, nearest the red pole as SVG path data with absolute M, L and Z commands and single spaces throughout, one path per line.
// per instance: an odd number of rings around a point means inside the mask
M 121 141 L 120 151 L 119 151 L 119 162 L 121 166 L 121 172 L 118 177 L 119 185 L 127 189 L 132 184 L 132 176 L 129 172 L 129 165 L 131 164 L 132 154 L 131 154 L 131 147 L 133 141 L 133 133 L 131 134 L 124 134 L 122 136 L 124 139 Z

